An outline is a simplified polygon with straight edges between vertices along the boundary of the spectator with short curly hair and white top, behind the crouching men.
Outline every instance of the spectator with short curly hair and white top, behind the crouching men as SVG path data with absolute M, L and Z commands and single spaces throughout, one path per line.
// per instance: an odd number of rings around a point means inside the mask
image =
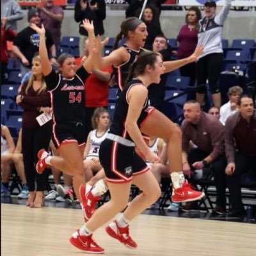
M 225 125 L 228 116 L 236 113 L 238 110 L 237 102 L 243 94 L 243 89 L 240 86 L 232 86 L 228 89 L 229 101 L 220 108 L 220 122 Z

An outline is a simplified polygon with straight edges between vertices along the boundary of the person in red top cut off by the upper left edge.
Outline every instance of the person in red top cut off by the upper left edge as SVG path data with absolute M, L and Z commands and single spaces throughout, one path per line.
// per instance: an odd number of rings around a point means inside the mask
M 7 41 L 13 41 L 16 36 L 16 32 L 11 28 L 8 28 L 6 20 L 1 20 L 1 83 L 5 84 L 8 81 L 8 47 Z

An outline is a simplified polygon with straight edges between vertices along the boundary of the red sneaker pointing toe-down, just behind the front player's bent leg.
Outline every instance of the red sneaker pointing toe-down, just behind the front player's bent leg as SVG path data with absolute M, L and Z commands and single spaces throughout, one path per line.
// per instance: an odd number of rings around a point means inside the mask
M 86 184 L 82 184 L 79 188 L 81 196 L 81 207 L 84 214 L 84 221 L 88 221 L 95 212 L 95 205 L 100 200 L 101 196 L 93 196 L 92 191 L 86 193 Z

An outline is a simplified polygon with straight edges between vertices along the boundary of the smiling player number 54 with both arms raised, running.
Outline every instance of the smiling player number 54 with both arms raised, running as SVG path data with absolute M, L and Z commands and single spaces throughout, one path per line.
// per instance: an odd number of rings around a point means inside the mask
M 45 29 L 38 28 L 35 24 L 31 28 L 40 35 L 39 54 L 42 62 L 42 70 L 51 93 L 52 103 L 52 141 L 58 148 L 61 157 L 50 156 L 44 149 L 38 152 L 36 171 L 44 172 L 47 165 L 72 175 L 73 186 L 77 198 L 79 186 L 84 183 L 83 152 L 86 141 L 86 129 L 84 125 L 84 81 L 88 72 L 92 70 L 93 61 L 97 61 L 99 54 L 96 52 L 93 24 L 88 20 L 83 21 L 83 27 L 88 31 L 90 54 L 83 66 L 76 67 L 75 58 L 67 53 L 58 58 L 60 73 L 52 70 L 51 63 L 45 47 Z M 99 42 L 96 47 L 99 46 Z

